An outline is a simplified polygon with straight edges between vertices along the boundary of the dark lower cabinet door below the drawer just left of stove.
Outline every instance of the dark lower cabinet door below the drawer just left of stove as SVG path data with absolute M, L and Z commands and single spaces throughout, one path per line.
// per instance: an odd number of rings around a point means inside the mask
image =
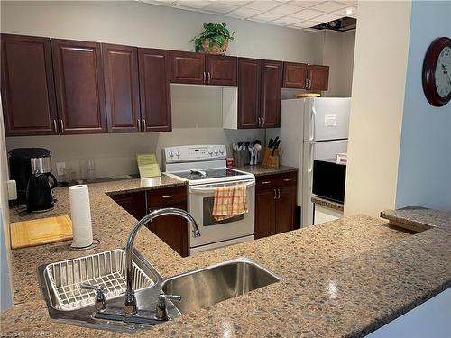
M 173 204 L 170 207 L 187 210 L 187 203 Z M 152 212 L 158 209 L 161 209 L 161 206 L 152 206 L 148 211 Z M 180 256 L 188 256 L 188 222 L 183 217 L 162 215 L 155 218 L 148 228 L 174 251 L 178 252 Z

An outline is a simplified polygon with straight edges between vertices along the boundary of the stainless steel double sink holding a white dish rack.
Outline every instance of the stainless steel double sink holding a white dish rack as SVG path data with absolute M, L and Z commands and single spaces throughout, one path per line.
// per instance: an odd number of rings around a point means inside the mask
M 79 288 L 80 284 L 87 281 L 100 284 L 106 289 L 108 306 L 123 306 L 123 253 L 122 249 L 117 249 L 77 260 L 41 265 L 38 268 L 41 293 L 51 318 L 64 324 L 125 333 L 149 327 L 94 318 L 94 291 Z M 154 311 L 161 291 L 182 297 L 181 302 L 168 301 L 170 319 L 214 306 L 226 299 L 242 296 L 281 280 L 269 269 L 246 258 L 228 260 L 163 279 L 139 251 L 133 250 L 133 274 L 135 273 L 140 280 L 136 288 L 140 308 Z

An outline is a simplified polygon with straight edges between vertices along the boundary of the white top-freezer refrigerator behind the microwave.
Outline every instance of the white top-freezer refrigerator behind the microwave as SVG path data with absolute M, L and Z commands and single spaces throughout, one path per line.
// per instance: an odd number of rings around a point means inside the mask
M 309 97 L 282 100 L 281 164 L 297 167 L 301 226 L 313 224 L 311 202 L 313 160 L 336 158 L 347 151 L 349 97 Z

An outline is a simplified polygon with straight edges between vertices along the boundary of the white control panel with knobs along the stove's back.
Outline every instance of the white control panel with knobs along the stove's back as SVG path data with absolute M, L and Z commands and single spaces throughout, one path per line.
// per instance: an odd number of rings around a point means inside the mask
M 224 144 L 183 145 L 164 149 L 166 163 L 192 162 L 198 160 L 225 160 L 227 157 Z

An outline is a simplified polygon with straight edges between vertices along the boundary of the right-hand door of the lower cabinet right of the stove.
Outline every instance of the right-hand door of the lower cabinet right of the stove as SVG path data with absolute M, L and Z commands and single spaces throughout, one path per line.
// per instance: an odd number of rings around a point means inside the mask
M 276 233 L 294 229 L 296 216 L 296 186 L 281 187 L 276 199 Z

